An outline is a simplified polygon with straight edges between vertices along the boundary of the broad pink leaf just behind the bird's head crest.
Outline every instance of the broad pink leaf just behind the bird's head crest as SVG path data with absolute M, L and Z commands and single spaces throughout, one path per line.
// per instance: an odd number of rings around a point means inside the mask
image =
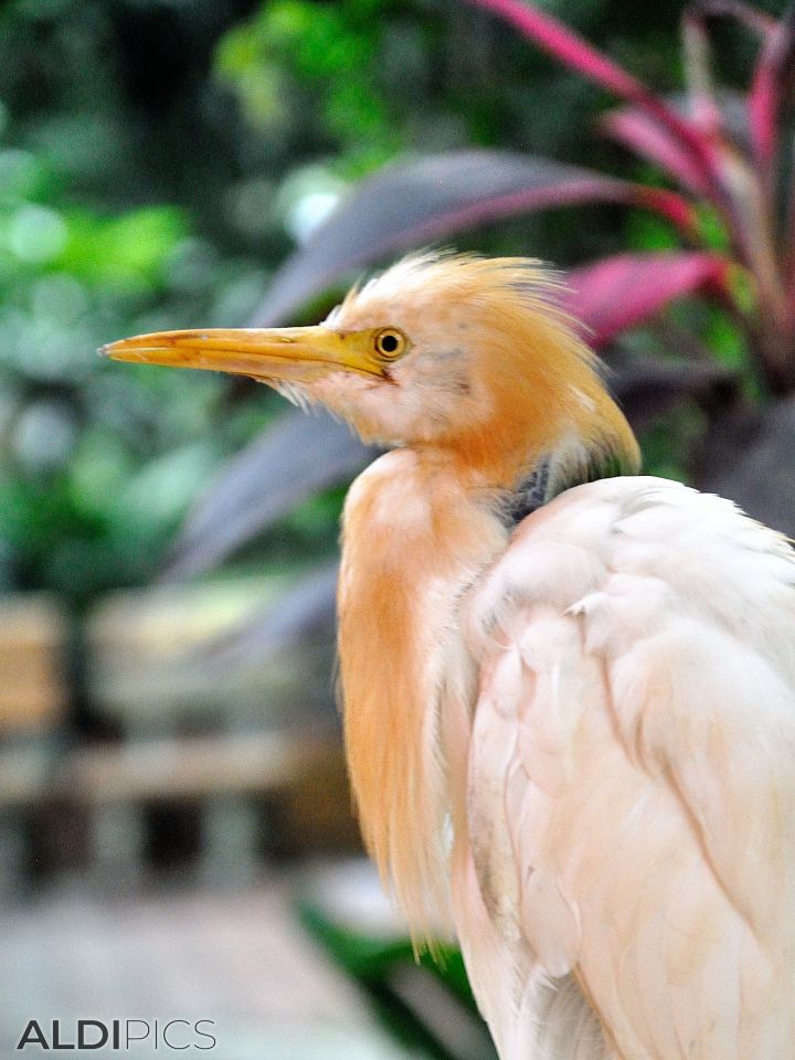
M 727 258 L 697 251 L 616 254 L 573 269 L 563 305 L 598 348 L 683 295 L 725 292 L 729 268 Z

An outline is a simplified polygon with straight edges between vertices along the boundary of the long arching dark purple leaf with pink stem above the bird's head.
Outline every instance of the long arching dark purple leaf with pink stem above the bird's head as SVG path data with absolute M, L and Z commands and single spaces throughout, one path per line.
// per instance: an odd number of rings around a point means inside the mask
M 352 269 L 394 251 L 446 239 L 487 221 L 552 206 L 646 206 L 691 230 L 691 205 L 674 192 L 510 151 L 465 150 L 388 166 L 363 180 L 276 275 L 252 321 L 287 321 Z

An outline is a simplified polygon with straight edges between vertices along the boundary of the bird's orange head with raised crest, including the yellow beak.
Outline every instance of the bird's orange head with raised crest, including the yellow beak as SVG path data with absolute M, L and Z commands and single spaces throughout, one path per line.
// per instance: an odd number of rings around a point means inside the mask
M 316 327 L 163 331 L 104 352 L 250 375 L 322 403 L 367 442 L 456 453 L 495 485 L 565 446 L 633 466 L 632 432 L 556 307 L 558 287 L 523 258 L 418 254 L 354 287 Z

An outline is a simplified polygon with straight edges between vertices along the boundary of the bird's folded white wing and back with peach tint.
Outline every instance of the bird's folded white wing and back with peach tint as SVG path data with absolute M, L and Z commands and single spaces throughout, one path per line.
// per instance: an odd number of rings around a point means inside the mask
M 672 483 L 591 484 L 524 520 L 463 621 L 458 919 L 504 1056 L 534 1056 L 570 974 L 606 1045 L 565 1056 L 795 1056 L 785 540 Z

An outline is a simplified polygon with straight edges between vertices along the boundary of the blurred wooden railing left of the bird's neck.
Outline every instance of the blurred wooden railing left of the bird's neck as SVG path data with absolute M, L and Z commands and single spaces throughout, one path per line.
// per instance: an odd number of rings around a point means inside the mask
M 241 582 L 114 594 L 78 637 L 49 597 L 0 598 L 0 888 L 64 862 L 135 883 L 152 869 L 152 807 L 191 815 L 189 869 L 214 880 L 255 871 L 263 851 L 357 845 L 330 646 L 232 660 L 213 647 L 268 593 Z M 66 662 L 74 644 L 80 667 Z M 76 671 L 113 740 L 75 724 Z

